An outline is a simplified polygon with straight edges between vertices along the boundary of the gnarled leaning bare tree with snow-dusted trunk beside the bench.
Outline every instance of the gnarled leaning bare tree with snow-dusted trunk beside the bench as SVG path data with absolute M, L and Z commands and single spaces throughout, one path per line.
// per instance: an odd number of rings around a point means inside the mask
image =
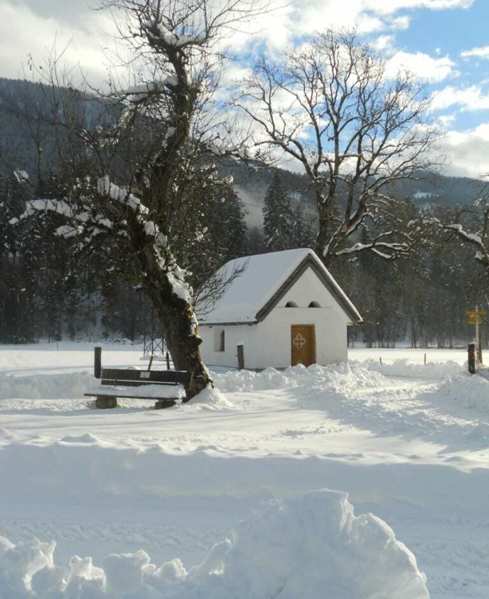
M 73 237 L 79 252 L 103 249 L 107 276 L 130 278 L 144 289 L 175 368 L 192 373 L 190 398 L 208 385 L 209 373 L 175 247 L 195 210 L 205 210 L 193 193 L 196 179 L 209 184 L 215 178 L 205 157 L 226 144 L 226 128 L 212 110 L 223 37 L 267 10 L 268 2 L 104 0 L 103 6 L 130 45 L 139 80 L 123 90 L 111 84 L 102 108 L 87 117 L 69 101 L 80 92 L 69 83 L 63 87 L 51 61 L 49 83 L 63 88 L 61 96 L 53 93 L 53 122 L 71 184 L 66 198 L 29 202 L 20 220 L 38 211 L 63 214 L 69 224 L 57 234 Z M 111 261 L 104 263 L 104 256 Z

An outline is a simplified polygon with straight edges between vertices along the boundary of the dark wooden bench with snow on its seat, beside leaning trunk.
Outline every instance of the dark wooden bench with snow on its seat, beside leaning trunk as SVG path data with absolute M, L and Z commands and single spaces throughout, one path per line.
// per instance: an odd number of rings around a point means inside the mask
M 105 389 L 94 389 L 91 393 L 86 393 L 87 397 L 95 397 L 95 407 L 100 409 L 117 407 L 117 398 L 136 398 L 142 400 L 156 400 L 155 409 L 168 408 L 175 406 L 180 398 L 182 401 L 188 401 L 177 392 L 177 386 L 188 386 L 190 383 L 190 373 L 184 370 L 132 370 L 130 368 L 101 368 L 101 385 Z M 133 392 L 133 387 L 148 388 L 145 393 Z M 172 392 L 168 387 L 175 388 Z M 178 389 L 178 391 L 180 391 Z M 139 390 L 138 390 L 139 391 Z

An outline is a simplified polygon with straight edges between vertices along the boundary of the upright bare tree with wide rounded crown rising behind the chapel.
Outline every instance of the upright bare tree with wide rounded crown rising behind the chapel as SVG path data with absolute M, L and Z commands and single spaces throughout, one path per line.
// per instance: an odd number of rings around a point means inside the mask
M 392 211 L 388 189 L 434 167 L 436 131 L 429 101 L 408 72 L 387 77 L 386 63 L 354 33 L 328 31 L 287 52 L 283 62 L 257 62 L 239 83 L 233 105 L 247 115 L 252 144 L 264 159 L 288 158 L 314 192 L 324 261 L 372 250 L 384 258 L 409 251 L 408 234 L 382 225 Z M 360 228 L 368 243 L 351 244 Z

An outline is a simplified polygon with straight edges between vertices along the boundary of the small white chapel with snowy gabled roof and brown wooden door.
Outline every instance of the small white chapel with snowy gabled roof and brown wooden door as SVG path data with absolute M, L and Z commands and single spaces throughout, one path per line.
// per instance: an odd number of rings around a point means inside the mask
M 199 317 L 205 364 L 260 369 L 347 360 L 347 326 L 362 317 L 312 250 L 238 258 L 217 276 L 236 270 L 242 273 Z

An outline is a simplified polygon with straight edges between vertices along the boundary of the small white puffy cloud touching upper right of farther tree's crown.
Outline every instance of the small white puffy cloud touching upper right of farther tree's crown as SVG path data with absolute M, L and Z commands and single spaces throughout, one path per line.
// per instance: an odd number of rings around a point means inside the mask
M 424 52 L 397 52 L 388 60 L 386 71 L 388 77 L 395 77 L 399 69 L 406 69 L 421 80 L 437 83 L 449 76 L 458 76 L 454 66 L 448 56 L 433 58 Z

